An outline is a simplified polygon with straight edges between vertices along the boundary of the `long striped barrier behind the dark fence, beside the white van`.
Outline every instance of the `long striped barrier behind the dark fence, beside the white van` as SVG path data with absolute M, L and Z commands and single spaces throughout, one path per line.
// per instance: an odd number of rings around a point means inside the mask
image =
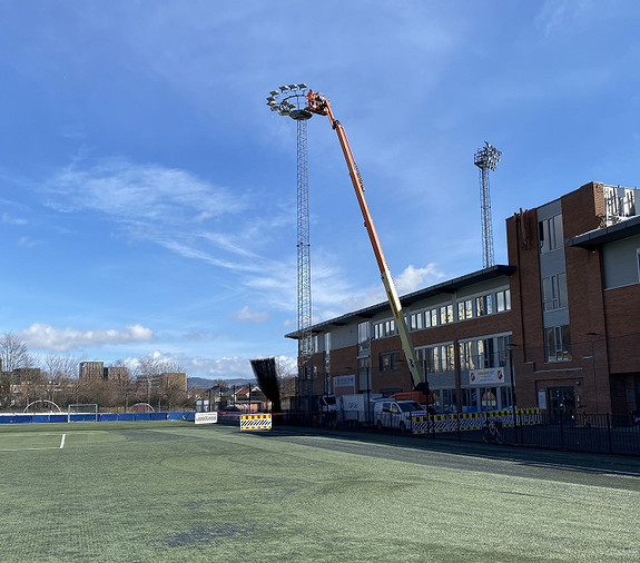
M 542 424 L 538 408 L 522 408 L 515 412 L 519 425 Z M 412 416 L 412 433 L 426 434 L 429 432 L 477 431 L 484 424 L 484 418 L 499 418 L 503 426 L 513 426 L 511 411 L 492 411 L 489 413 L 462 413 Z

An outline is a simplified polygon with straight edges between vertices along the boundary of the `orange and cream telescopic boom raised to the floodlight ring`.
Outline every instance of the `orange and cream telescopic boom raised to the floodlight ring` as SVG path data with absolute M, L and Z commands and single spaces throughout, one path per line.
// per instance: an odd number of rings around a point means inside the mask
M 353 182 L 353 187 L 355 189 L 357 203 L 360 204 L 360 209 L 362 211 L 362 216 L 364 217 L 364 226 L 366 227 L 366 230 L 368 233 L 368 238 L 373 247 L 373 253 L 375 254 L 377 267 L 380 268 L 382 283 L 384 285 L 384 289 L 386 292 L 386 296 L 391 305 L 391 310 L 393 312 L 393 316 L 395 317 L 395 326 L 397 327 L 397 332 L 400 334 L 400 339 L 402 342 L 402 349 L 406 357 L 408 371 L 411 372 L 413 386 L 414 388 L 416 388 L 419 387 L 420 384 L 425 383 L 425 377 L 424 374 L 422 373 L 421 365 L 417 362 L 415 349 L 413 347 L 411 335 L 408 333 L 408 327 L 406 326 L 406 319 L 404 318 L 404 313 L 402 310 L 402 304 L 400 303 L 400 297 L 397 296 L 395 284 L 393 283 L 393 278 L 391 277 L 391 271 L 388 270 L 388 266 L 382 251 L 382 246 L 380 245 L 380 240 L 377 238 L 377 234 L 373 225 L 373 219 L 371 218 L 371 214 L 368 211 L 368 206 L 366 205 L 366 200 L 364 198 L 364 185 L 362 181 L 362 177 L 360 175 L 360 169 L 355 164 L 351 146 L 346 138 L 346 132 L 342 124 L 337 119 L 335 119 L 333 111 L 331 109 L 329 100 L 325 96 L 323 96 L 319 92 L 314 92 L 313 90 L 309 90 L 307 92 L 307 99 L 308 99 L 308 106 L 306 110 L 311 111 L 312 113 L 316 113 L 318 116 L 327 116 L 331 126 L 337 134 L 337 138 L 339 140 L 344 158 L 346 160 L 346 166 L 348 168 L 348 174 L 351 176 L 351 181 Z

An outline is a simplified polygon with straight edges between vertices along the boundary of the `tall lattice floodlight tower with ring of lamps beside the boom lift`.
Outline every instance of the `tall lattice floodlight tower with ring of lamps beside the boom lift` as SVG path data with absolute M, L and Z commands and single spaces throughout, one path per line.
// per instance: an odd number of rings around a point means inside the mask
M 297 126 L 297 293 L 298 293 L 298 396 L 313 395 L 312 288 L 309 245 L 309 194 L 307 169 L 307 120 L 313 113 L 306 110 L 307 85 L 280 86 L 272 90 L 267 105 L 272 111 L 288 116 Z

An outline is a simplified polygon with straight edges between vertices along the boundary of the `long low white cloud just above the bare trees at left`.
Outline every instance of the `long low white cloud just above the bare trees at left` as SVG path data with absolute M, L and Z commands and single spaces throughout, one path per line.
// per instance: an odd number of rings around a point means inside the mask
M 16 335 L 29 348 L 63 352 L 86 346 L 102 346 L 106 344 L 129 344 L 154 340 L 154 330 L 140 324 L 129 325 L 124 329 L 79 330 L 77 328 L 57 328 L 43 323 L 35 323 L 30 327 L 17 330 Z

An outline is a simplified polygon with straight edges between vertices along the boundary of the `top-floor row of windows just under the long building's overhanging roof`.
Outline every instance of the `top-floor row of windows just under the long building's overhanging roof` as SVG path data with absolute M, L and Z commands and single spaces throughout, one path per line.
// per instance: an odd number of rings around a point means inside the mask
M 459 300 L 457 310 L 454 309 L 452 304 L 447 304 L 411 313 L 407 318 L 407 325 L 410 330 L 422 330 L 434 326 L 447 325 L 455 320 L 466 320 L 505 310 L 511 310 L 511 292 L 509 289 Z M 384 338 L 397 334 L 394 319 L 376 323 L 373 328 L 374 338 Z M 360 334 L 358 329 L 358 337 Z

